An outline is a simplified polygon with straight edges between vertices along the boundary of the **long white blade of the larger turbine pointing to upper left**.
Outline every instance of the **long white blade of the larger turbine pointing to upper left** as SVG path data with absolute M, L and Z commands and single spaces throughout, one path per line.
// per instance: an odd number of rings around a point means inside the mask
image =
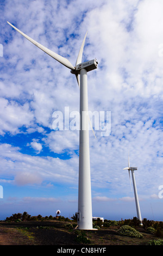
M 49 50 L 48 48 L 46 48 L 45 46 L 39 44 L 39 42 L 36 42 L 35 40 L 33 40 L 32 38 L 30 38 L 28 35 L 24 34 L 23 32 L 21 32 L 18 28 L 16 28 L 15 26 L 13 26 L 10 22 L 7 21 L 7 23 L 14 28 L 17 32 L 19 32 L 21 35 L 24 36 L 24 38 L 28 39 L 30 42 L 32 42 L 34 45 L 36 45 L 37 47 L 39 47 L 43 52 L 47 53 L 49 56 L 51 56 L 52 58 L 54 58 L 55 60 L 57 60 L 58 62 L 60 62 L 62 65 L 66 66 L 67 68 L 74 70 L 74 66 L 71 64 L 71 62 L 60 56 L 59 54 Z

